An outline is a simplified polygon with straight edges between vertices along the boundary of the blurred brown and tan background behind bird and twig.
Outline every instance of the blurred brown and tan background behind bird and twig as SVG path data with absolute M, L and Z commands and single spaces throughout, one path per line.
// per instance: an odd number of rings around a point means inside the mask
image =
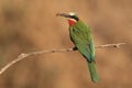
M 57 12 L 77 12 L 92 28 L 100 81 L 90 81 L 78 52 L 31 56 L 0 76 L 0 88 L 132 88 L 132 0 L 0 0 L 0 68 L 21 53 L 73 47 L 68 23 Z

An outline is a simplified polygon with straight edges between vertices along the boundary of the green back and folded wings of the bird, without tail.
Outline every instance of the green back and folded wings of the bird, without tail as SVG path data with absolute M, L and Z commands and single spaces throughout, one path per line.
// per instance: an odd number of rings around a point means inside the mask
M 84 22 L 78 21 L 74 26 L 69 28 L 69 35 L 80 54 L 88 62 L 95 61 L 95 46 L 90 28 Z

